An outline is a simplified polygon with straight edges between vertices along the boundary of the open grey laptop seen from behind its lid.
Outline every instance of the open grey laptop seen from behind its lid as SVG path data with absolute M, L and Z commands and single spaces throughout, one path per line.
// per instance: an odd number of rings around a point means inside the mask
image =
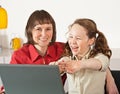
M 6 94 L 65 94 L 58 66 L 0 64 Z

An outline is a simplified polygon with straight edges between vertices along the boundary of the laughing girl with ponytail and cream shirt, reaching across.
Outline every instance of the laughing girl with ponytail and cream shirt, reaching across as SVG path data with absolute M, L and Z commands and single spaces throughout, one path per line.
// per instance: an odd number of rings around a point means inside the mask
M 104 94 L 106 70 L 112 52 L 91 19 L 77 19 L 69 28 L 63 58 L 68 94 Z

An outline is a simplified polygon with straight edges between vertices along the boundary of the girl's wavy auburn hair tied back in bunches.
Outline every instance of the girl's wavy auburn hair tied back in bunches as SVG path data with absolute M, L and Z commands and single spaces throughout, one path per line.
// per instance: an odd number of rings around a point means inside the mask
M 90 39 L 95 38 L 95 43 L 93 44 L 93 47 L 90 51 L 89 58 L 96 56 L 98 53 L 103 53 L 110 59 L 112 55 L 112 51 L 108 46 L 107 39 L 102 32 L 97 30 L 97 25 L 93 20 L 86 19 L 86 18 L 76 19 L 73 22 L 73 24 L 69 26 L 69 29 L 71 29 L 71 27 L 74 24 L 79 24 L 80 26 L 83 26 L 86 29 L 88 38 Z M 67 42 L 65 44 L 65 49 L 62 56 L 71 56 L 71 55 L 72 55 L 72 52 Z

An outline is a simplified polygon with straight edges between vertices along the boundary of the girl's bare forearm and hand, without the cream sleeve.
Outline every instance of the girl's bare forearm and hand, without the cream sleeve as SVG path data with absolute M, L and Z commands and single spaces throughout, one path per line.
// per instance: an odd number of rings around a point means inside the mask
M 68 73 L 75 73 L 81 69 L 92 69 L 92 70 L 100 70 L 102 64 L 98 59 L 87 59 L 87 60 L 70 60 L 65 62 L 60 62 L 59 65 L 65 67 L 65 71 Z

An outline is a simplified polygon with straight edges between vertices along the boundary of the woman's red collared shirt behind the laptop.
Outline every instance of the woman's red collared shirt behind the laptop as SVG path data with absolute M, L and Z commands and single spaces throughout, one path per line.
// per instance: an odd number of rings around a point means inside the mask
M 14 51 L 10 64 L 49 64 L 60 59 L 64 46 L 64 43 L 55 42 L 48 46 L 46 55 L 41 56 L 33 45 L 26 44 L 19 50 Z M 66 74 L 62 76 L 63 84 L 65 79 Z

